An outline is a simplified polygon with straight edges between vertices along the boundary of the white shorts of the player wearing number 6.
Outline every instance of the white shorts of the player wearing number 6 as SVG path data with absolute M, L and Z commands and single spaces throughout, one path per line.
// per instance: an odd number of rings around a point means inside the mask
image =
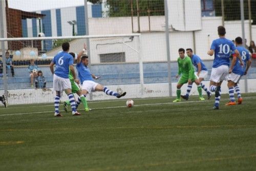
M 66 89 L 71 89 L 71 82 L 69 78 L 62 78 L 53 74 L 53 90 L 61 92 Z

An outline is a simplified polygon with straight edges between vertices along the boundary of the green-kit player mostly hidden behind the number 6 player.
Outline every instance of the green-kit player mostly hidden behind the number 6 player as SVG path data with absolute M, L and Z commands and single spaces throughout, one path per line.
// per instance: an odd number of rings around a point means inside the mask
M 73 52 L 69 53 L 70 55 L 73 56 L 73 59 L 75 61 L 75 54 Z M 82 55 L 83 54 L 83 51 L 81 51 L 78 55 Z M 86 100 L 86 97 L 84 97 L 82 95 L 82 92 L 81 92 L 81 89 L 80 87 L 78 86 L 79 84 L 79 80 L 78 79 L 75 79 L 74 80 L 74 77 L 73 77 L 73 74 L 71 72 L 69 72 L 69 79 L 70 79 L 70 82 L 71 82 L 71 89 L 72 89 L 72 93 L 76 93 L 79 98 L 78 100 L 76 101 L 76 108 L 78 107 L 78 105 L 80 104 L 80 102 L 83 103 L 83 106 L 84 106 L 84 110 L 85 111 L 91 111 L 90 108 L 88 108 L 88 104 L 87 104 L 87 100 Z M 63 103 L 63 108 L 64 108 L 64 111 L 65 112 L 68 112 L 68 105 L 70 105 L 70 102 L 69 100 L 67 101 L 64 101 Z

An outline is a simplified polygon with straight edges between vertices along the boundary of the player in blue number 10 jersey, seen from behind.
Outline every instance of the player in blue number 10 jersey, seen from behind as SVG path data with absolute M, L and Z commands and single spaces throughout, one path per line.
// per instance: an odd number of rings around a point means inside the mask
M 219 109 L 222 81 L 227 80 L 228 73 L 232 72 L 234 64 L 237 61 L 237 57 L 239 57 L 240 61 L 242 61 L 233 42 L 225 38 L 226 29 L 223 26 L 218 27 L 218 34 L 220 38 L 212 41 L 210 50 L 207 52 L 207 54 L 210 56 L 214 55 L 214 63 L 212 65 L 210 75 L 210 91 L 215 92 L 215 110 Z M 232 50 L 234 53 L 231 65 L 229 67 L 230 50 Z

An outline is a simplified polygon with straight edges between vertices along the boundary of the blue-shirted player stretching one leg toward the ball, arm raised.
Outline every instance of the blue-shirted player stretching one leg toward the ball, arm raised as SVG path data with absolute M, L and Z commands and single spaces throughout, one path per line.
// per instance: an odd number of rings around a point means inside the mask
M 86 49 L 83 49 L 83 52 L 85 51 Z M 89 59 L 87 55 L 77 56 L 76 69 L 78 71 L 79 79 L 82 83 L 82 94 L 84 95 L 84 97 L 86 97 L 88 93 L 90 94 L 91 92 L 94 92 L 94 91 L 101 91 L 107 95 L 116 96 L 117 98 L 125 96 L 126 92 L 119 94 L 109 90 L 106 87 L 101 86 L 101 84 L 97 82 L 94 82 L 93 78 L 96 79 L 97 77 L 91 74 L 89 68 L 87 67 L 88 63 L 89 63 Z

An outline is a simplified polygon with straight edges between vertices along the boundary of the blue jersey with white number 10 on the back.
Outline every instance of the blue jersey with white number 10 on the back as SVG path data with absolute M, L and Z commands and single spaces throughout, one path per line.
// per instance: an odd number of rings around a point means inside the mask
M 225 65 L 229 67 L 229 52 L 236 50 L 231 40 L 218 38 L 212 41 L 210 49 L 214 50 L 214 65 L 212 68 Z

